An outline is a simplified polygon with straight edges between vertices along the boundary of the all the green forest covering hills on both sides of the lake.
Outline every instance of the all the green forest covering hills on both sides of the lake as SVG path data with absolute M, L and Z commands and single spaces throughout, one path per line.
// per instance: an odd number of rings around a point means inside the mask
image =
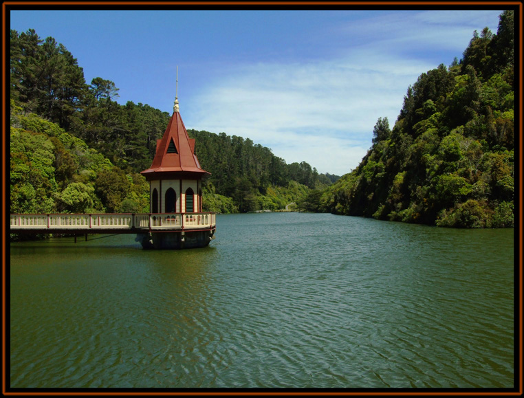
M 116 102 L 64 45 L 34 30 L 10 34 L 11 212 L 149 212 L 155 143 L 171 115 Z M 338 177 L 226 133 L 190 129 L 204 210 L 289 203 L 314 212 L 457 228 L 514 225 L 514 14 L 475 31 L 460 60 L 408 87 L 393 128 L 379 118 L 360 165 Z M 371 135 L 371 131 L 370 131 Z M 517 171 L 518 173 L 518 171 Z

